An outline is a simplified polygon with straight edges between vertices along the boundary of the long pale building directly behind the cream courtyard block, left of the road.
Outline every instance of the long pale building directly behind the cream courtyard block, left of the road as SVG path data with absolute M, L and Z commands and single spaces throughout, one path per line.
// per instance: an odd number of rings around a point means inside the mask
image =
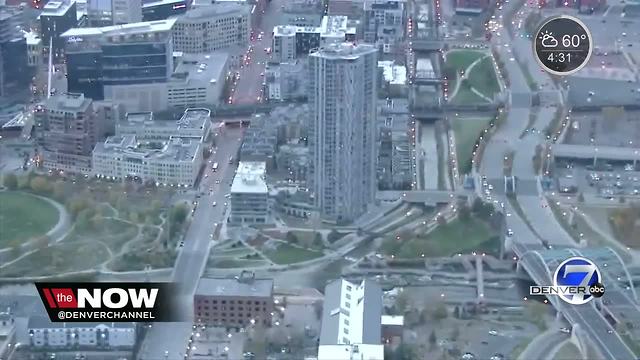
M 152 112 L 127 113 L 116 123 L 116 135 L 134 135 L 138 140 L 170 137 L 204 140 L 211 131 L 209 109 L 187 109 L 178 121 L 155 120 Z

